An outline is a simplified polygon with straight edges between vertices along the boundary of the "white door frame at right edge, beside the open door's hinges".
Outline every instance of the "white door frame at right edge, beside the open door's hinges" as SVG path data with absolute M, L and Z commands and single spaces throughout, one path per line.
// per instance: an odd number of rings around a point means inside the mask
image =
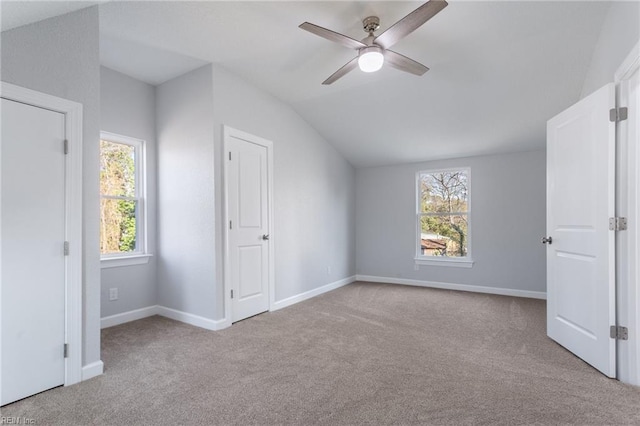
M 614 74 L 614 84 L 616 86 L 616 107 L 621 105 L 622 99 L 626 99 L 627 93 L 622 83 L 633 76 L 635 72 L 640 72 L 640 40 L 631 49 L 622 64 Z M 623 188 L 617 192 L 619 204 L 627 205 L 627 213 L 633 215 L 629 217 L 629 228 L 625 232 L 625 242 L 617 244 L 616 269 L 625 268 L 626 274 L 618 274 L 616 283 L 617 304 L 618 304 L 618 325 L 629 329 L 629 340 L 618 341 L 618 379 L 636 386 L 640 386 L 640 270 L 638 266 L 632 265 L 632 259 L 637 259 L 640 255 L 640 148 L 637 141 L 630 141 L 628 128 L 634 122 L 636 135 L 640 135 L 640 110 L 629 110 L 627 121 L 621 121 L 616 126 L 616 149 L 628 149 L 627 161 L 621 165 L 627 170 Z M 626 188 L 624 188 L 626 187 Z M 625 190 L 626 189 L 626 190 Z M 616 215 L 618 212 L 616 211 Z

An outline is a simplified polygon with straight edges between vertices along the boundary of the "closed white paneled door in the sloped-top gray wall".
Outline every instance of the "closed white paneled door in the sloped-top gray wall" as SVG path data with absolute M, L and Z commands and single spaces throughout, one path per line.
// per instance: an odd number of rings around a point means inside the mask
M 231 321 L 269 310 L 269 147 L 239 131 L 225 138 Z

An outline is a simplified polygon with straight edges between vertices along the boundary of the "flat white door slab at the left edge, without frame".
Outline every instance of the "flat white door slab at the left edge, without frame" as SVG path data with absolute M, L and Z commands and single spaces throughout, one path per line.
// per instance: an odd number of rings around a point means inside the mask
M 65 118 L 2 99 L 1 404 L 64 384 Z

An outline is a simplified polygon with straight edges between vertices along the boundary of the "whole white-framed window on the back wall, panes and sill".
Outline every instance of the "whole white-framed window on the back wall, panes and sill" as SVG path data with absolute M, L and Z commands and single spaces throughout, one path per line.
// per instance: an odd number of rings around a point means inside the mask
M 471 267 L 469 169 L 417 174 L 416 263 Z

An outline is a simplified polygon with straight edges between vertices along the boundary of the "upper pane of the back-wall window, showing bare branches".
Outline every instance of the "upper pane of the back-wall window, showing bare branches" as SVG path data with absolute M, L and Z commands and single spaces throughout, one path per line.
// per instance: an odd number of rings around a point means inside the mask
M 466 171 L 420 174 L 420 213 L 466 212 L 468 176 Z

